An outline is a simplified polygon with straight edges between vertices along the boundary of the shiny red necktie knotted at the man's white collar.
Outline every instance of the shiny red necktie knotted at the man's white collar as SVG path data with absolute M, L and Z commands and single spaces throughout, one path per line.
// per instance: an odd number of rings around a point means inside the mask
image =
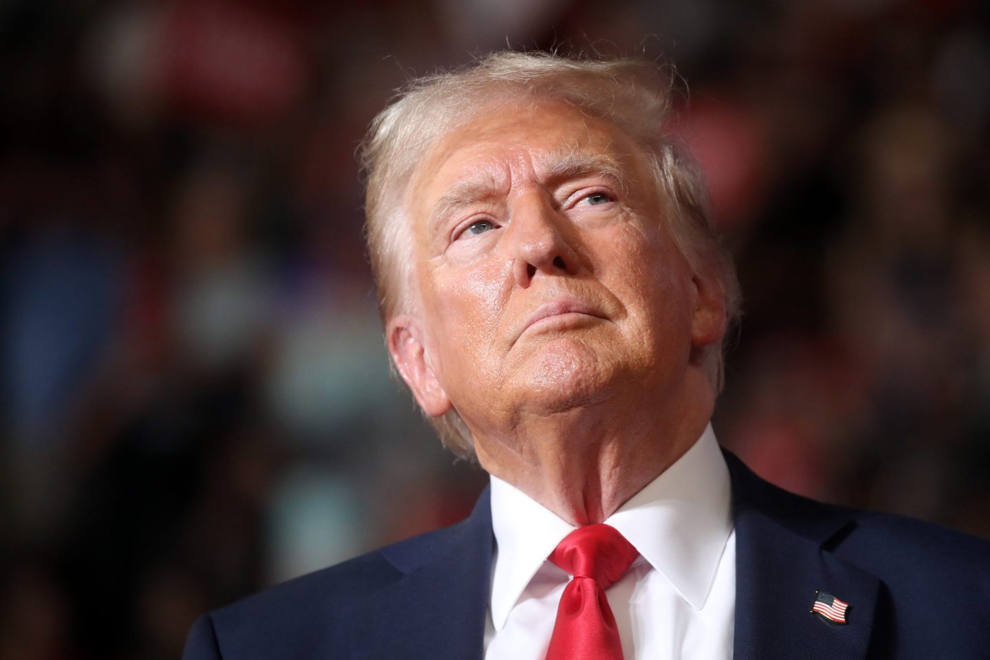
M 560 596 L 546 660 L 623 660 L 605 590 L 639 555 L 615 527 L 601 522 L 578 527 L 560 541 L 549 560 L 574 579 Z

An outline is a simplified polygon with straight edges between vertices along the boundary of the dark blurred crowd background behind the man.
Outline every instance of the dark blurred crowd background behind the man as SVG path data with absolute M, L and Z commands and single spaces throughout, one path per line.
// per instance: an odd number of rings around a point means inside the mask
M 743 282 L 720 439 L 990 536 L 990 5 L 0 3 L 0 660 L 193 618 L 466 515 L 390 380 L 353 152 L 412 74 L 662 55 Z

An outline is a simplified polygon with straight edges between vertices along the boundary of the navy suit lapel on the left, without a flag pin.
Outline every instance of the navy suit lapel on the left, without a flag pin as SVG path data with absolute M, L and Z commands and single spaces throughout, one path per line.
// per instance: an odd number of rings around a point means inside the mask
M 354 614 L 352 657 L 481 659 L 493 545 L 488 490 L 470 518 L 437 533 L 383 551 L 404 575 Z

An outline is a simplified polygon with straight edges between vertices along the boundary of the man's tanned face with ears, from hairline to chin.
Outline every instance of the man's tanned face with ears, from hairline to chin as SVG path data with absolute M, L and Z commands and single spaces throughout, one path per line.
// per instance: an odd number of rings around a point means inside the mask
M 452 405 L 475 437 L 528 413 L 673 401 L 692 348 L 721 338 L 644 158 L 607 122 L 500 107 L 428 153 L 407 208 L 418 305 L 390 347 L 426 412 Z

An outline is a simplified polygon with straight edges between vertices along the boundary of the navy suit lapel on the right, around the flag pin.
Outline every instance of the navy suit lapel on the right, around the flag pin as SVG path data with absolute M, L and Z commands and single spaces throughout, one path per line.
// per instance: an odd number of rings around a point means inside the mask
M 808 515 L 821 506 L 773 493 L 735 456 L 727 460 L 736 519 L 736 660 L 866 657 L 880 581 L 825 549 L 849 520 L 834 509 Z M 810 612 L 816 591 L 849 604 L 847 623 Z

